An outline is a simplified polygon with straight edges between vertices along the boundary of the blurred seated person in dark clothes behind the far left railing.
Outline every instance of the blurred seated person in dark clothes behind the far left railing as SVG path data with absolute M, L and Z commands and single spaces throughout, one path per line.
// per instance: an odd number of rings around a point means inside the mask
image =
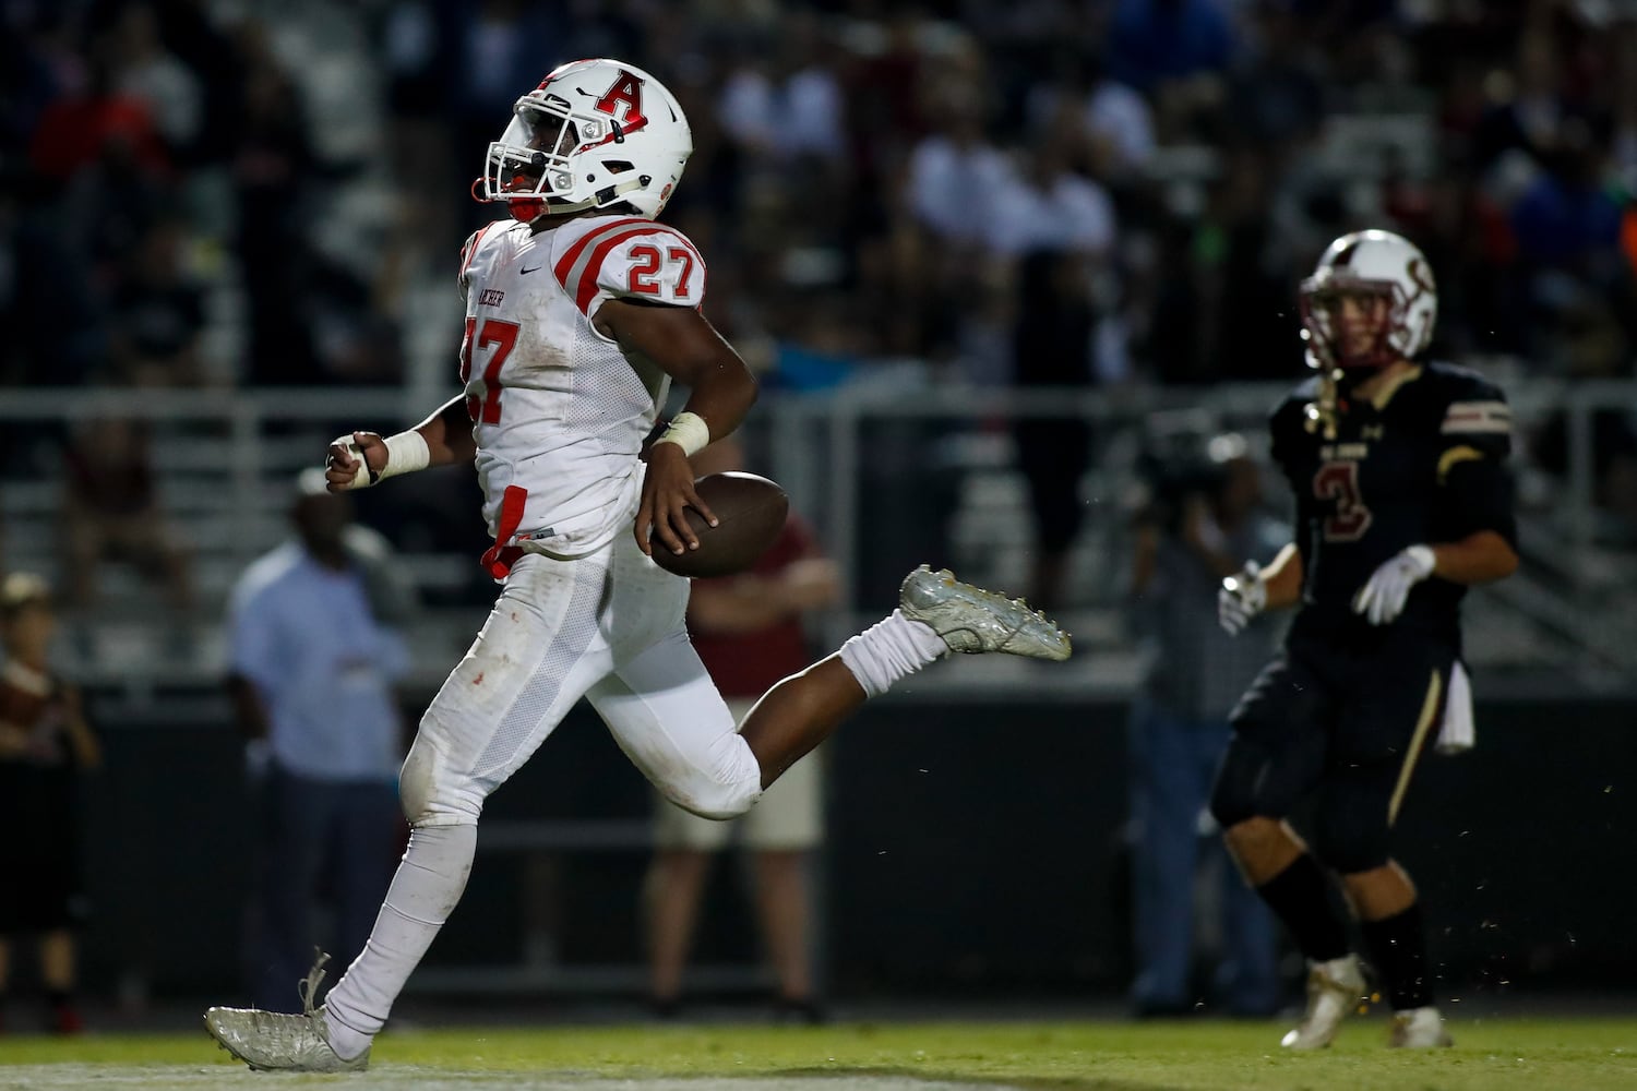
M 106 561 L 128 561 L 160 582 L 180 623 L 193 610 L 188 551 L 159 507 L 146 420 L 106 417 L 82 422 L 64 455 L 62 556 L 67 599 L 83 608 L 97 600 Z

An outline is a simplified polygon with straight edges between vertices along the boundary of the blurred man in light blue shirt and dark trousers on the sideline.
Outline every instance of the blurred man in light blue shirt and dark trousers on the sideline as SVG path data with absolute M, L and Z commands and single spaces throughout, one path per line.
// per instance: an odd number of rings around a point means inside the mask
M 363 949 L 401 837 L 393 685 L 408 653 L 383 615 L 403 618 L 403 589 L 380 579 L 390 558 L 360 545 L 350 499 L 327 492 L 322 471 L 296 492 L 296 540 L 250 564 L 229 617 L 229 689 L 262 801 L 252 990 L 268 1011 L 290 1009 L 290 983 L 324 939 L 321 890 L 336 908 L 322 945 L 349 962 Z

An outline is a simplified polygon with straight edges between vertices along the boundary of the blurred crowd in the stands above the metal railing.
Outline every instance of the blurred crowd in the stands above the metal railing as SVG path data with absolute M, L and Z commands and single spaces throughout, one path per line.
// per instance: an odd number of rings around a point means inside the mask
M 0 381 L 403 381 L 413 286 L 493 214 L 467 198 L 485 144 L 519 88 L 598 54 L 688 110 L 668 219 L 774 388 L 882 358 L 972 384 L 1295 376 L 1293 286 L 1365 222 L 1439 270 L 1439 352 L 1629 376 L 1627 8 L 10 0 Z M 1043 286 L 1067 334 L 1044 363 L 1015 335 Z M 67 442 L 13 435 L 3 473 Z M 1534 442 L 1567 469 L 1560 422 Z M 1621 414 L 1596 463 L 1637 510 Z

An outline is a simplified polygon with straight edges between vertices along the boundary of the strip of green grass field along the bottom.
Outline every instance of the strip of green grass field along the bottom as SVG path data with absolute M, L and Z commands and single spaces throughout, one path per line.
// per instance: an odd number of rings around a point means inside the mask
M 1385 1019 L 1288 1055 L 1272 1024 L 892 1022 L 830 1027 L 635 1026 L 414 1030 L 354 1076 L 244 1070 L 196 1035 L 0 1039 L 0 1088 L 629 1088 L 632 1091 L 1601 1091 L 1637 1088 L 1637 1019 L 1454 1024 L 1452 1050 L 1398 1052 Z

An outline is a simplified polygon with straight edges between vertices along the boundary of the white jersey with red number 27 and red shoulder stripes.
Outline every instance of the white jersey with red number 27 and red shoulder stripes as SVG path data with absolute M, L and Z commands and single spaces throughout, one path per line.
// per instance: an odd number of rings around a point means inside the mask
M 535 232 L 496 221 L 460 262 L 460 378 L 478 443 L 483 517 L 507 546 L 593 553 L 637 515 L 642 442 L 670 376 L 591 326 L 606 299 L 697 308 L 706 267 L 686 236 L 648 219 L 588 216 Z

